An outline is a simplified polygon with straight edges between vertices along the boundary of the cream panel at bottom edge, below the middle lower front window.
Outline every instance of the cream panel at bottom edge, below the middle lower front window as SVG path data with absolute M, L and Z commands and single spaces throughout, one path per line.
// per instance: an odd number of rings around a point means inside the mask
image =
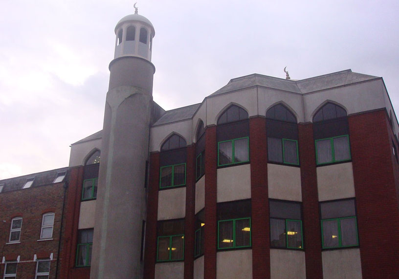
M 270 278 L 306 279 L 305 252 L 270 249 Z

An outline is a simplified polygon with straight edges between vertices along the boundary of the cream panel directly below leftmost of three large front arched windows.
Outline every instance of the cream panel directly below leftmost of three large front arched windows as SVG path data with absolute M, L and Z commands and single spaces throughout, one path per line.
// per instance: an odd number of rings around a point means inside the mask
M 217 202 L 251 198 L 251 165 L 243 164 L 218 169 Z

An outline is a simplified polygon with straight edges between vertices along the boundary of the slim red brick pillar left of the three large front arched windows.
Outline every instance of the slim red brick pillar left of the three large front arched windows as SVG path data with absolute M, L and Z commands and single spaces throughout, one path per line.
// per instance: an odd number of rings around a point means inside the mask
M 216 126 L 205 130 L 205 244 L 204 278 L 216 279 L 216 201 L 217 201 Z

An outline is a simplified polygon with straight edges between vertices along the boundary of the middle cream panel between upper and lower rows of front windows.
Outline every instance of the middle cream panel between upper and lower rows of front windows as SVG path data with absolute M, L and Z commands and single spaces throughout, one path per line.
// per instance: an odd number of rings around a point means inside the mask
M 269 198 L 302 201 L 301 168 L 279 164 L 267 164 Z

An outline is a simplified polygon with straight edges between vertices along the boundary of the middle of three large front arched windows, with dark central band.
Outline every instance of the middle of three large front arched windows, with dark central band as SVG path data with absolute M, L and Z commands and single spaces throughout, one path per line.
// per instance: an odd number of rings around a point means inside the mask
M 298 165 L 296 117 L 282 104 L 266 112 L 267 158 L 271 163 Z

